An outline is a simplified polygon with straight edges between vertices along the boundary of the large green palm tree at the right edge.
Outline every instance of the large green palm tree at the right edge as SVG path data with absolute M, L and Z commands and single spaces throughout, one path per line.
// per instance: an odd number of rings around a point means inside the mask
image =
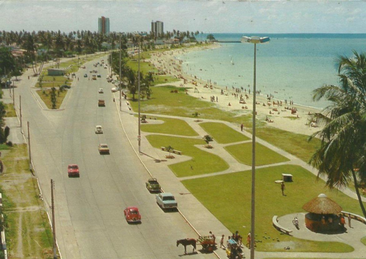
M 353 180 L 356 195 L 366 217 L 359 193 L 360 184 L 366 180 L 366 53 L 354 57 L 339 56 L 339 86 L 324 85 L 314 90 L 314 100 L 325 98 L 331 104 L 318 114 L 323 129 L 315 132 L 314 137 L 321 140 L 320 148 L 315 151 L 309 164 L 317 167 L 319 175 L 328 177 L 326 186 L 348 186 Z

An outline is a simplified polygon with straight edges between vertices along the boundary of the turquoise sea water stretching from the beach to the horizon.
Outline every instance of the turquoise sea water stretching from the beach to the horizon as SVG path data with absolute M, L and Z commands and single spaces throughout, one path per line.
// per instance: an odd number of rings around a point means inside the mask
M 213 34 L 219 41 L 240 41 L 253 34 Z M 257 90 L 275 99 L 324 108 L 312 100 L 312 91 L 324 84 L 338 84 L 335 58 L 366 51 L 366 34 L 266 34 L 268 44 L 257 44 Z M 198 38 L 206 38 L 206 34 Z M 220 43 L 221 48 L 178 56 L 183 70 L 218 85 L 253 87 L 254 44 Z M 234 65 L 231 63 L 231 59 Z

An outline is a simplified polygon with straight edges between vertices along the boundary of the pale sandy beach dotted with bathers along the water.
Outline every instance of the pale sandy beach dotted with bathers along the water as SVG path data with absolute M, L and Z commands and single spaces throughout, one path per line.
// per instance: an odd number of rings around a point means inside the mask
M 189 87 L 187 90 L 189 95 L 202 101 L 213 101 L 222 110 L 235 111 L 238 115 L 240 112 L 250 114 L 253 111 L 253 92 L 249 92 L 249 88 L 226 88 L 182 72 L 182 61 L 176 56 L 209 48 L 220 48 L 220 44 L 154 53 L 146 61 L 154 64 L 160 73 L 181 79 L 167 85 Z M 268 100 L 267 96 L 261 94 L 256 95 L 256 103 L 257 119 L 268 123 L 268 126 L 306 135 L 311 135 L 320 129 L 315 121 L 312 123 L 312 119 L 313 114 L 321 110 L 296 103 L 285 103 L 285 100 Z

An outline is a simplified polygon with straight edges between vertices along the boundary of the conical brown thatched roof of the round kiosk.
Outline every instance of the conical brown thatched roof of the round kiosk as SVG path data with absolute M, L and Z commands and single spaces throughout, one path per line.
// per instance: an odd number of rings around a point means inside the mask
M 337 214 L 342 211 L 341 206 L 323 193 L 306 203 L 302 208 L 315 214 Z

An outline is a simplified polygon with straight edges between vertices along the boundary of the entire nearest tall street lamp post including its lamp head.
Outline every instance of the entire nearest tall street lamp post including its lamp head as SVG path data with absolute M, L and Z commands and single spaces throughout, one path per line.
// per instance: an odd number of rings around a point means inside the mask
M 255 97 L 257 95 L 255 89 L 256 83 L 256 59 L 257 59 L 257 44 L 269 41 L 269 37 L 242 37 L 243 43 L 254 43 L 254 65 L 253 65 L 253 128 L 252 128 L 252 170 L 251 170 L 251 226 L 250 226 L 250 258 L 254 259 L 254 242 L 255 242 Z

